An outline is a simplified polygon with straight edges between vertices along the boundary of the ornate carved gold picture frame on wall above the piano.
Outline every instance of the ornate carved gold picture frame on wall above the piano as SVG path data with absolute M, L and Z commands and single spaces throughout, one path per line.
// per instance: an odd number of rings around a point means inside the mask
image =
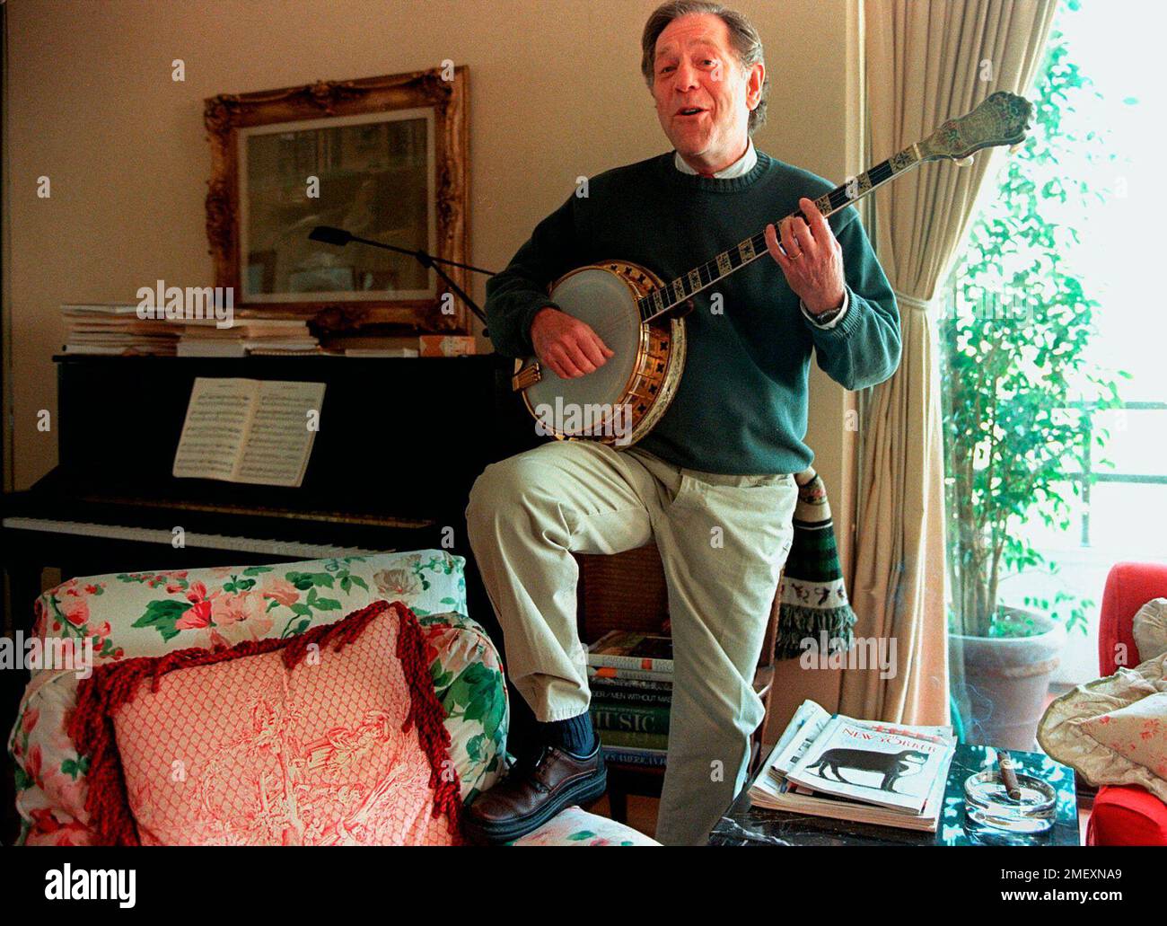
M 448 72 L 448 71 L 447 71 Z M 224 93 L 204 100 L 203 124 L 211 145 L 211 179 L 207 192 L 207 239 L 215 260 L 215 285 L 242 293 L 239 279 L 239 163 L 238 130 L 272 123 L 357 116 L 371 112 L 434 109 L 436 246 L 434 257 L 469 263 L 469 182 L 466 65 L 453 69 L 366 77 L 359 81 L 320 81 L 302 86 L 254 93 Z M 350 248 L 361 245 L 350 244 Z M 469 272 L 445 267 L 463 290 Z M 391 301 L 236 302 L 236 314 L 306 316 L 324 332 L 351 330 L 366 325 L 391 325 L 401 333 L 468 334 L 466 308 L 454 298 L 454 312 L 441 312 L 446 285 L 439 278 L 433 299 Z M 453 294 L 452 294 L 453 297 Z

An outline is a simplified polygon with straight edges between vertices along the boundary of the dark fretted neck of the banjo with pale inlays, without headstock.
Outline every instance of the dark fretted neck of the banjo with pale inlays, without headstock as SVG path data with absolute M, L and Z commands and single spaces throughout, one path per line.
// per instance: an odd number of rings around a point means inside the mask
M 830 193 L 824 193 L 815 200 L 815 206 L 818 207 L 824 217 L 834 215 L 851 203 L 858 202 L 876 187 L 883 186 L 924 160 L 925 158 L 920 152 L 920 144 L 915 142 L 899 154 L 893 154 L 886 161 L 880 161 L 846 183 L 836 187 Z M 787 217 L 792 216 L 802 216 L 802 213 L 795 211 Z M 638 299 L 636 307 L 640 309 L 641 320 L 649 322 L 676 311 L 697 293 L 724 280 L 747 264 L 753 264 L 767 250 L 766 231 L 763 230 Z

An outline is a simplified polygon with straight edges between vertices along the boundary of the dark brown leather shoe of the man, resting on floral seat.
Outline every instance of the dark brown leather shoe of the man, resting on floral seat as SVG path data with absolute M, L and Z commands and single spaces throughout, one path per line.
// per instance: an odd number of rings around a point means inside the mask
M 608 767 L 599 742 L 582 759 L 557 746 L 543 746 L 474 799 L 462 816 L 462 829 L 478 842 L 510 842 L 538 829 L 565 807 L 598 800 L 607 789 Z

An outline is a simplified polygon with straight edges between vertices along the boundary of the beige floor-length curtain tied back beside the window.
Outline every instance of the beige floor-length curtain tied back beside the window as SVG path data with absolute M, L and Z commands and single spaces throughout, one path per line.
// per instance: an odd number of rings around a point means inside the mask
M 902 151 L 997 90 L 1023 93 L 1054 9 L 1054 0 L 865 0 L 873 156 Z M 875 248 L 899 297 L 903 358 L 869 402 L 852 603 L 857 635 L 896 641 L 896 673 L 847 670 L 839 710 L 852 716 L 949 720 L 944 458 L 930 301 L 1001 156 L 981 152 L 964 168 L 923 165 L 875 193 Z

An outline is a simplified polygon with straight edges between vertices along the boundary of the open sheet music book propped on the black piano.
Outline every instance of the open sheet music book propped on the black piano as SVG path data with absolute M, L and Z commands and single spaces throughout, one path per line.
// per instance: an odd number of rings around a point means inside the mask
M 180 479 L 303 482 L 324 383 L 196 377 L 174 457 Z

